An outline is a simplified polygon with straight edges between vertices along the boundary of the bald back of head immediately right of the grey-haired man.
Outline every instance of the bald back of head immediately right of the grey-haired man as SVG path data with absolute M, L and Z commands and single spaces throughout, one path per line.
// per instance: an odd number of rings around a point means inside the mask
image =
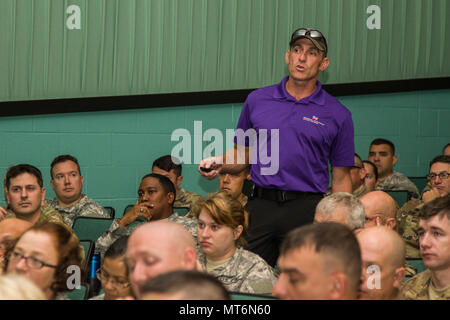
M 366 213 L 365 228 L 373 226 L 395 227 L 397 203 L 383 191 L 372 191 L 363 195 L 359 200 L 364 205 Z

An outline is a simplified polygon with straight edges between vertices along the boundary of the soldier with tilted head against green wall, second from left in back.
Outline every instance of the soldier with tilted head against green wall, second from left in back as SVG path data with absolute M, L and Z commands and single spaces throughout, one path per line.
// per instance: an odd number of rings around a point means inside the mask
M 58 210 L 69 227 L 77 217 L 109 218 L 105 208 L 82 194 L 84 178 L 75 157 L 65 154 L 53 159 L 50 176 L 56 198 L 47 200 L 47 204 Z

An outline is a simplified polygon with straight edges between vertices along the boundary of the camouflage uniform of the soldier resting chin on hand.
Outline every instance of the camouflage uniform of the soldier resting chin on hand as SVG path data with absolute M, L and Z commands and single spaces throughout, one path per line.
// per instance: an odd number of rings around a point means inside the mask
M 103 260 L 103 255 L 105 254 L 106 250 L 108 250 L 109 246 L 119 239 L 122 236 L 128 236 L 130 235 L 138 226 L 139 224 L 133 224 L 128 227 L 122 227 L 119 225 L 120 219 L 114 219 L 113 223 L 109 227 L 107 231 L 105 231 L 100 238 L 95 242 L 95 253 L 100 254 Z M 197 243 L 197 220 L 187 217 L 179 216 L 175 213 L 173 213 L 169 218 L 168 221 L 176 222 L 188 229 L 188 231 L 192 234 L 194 237 L 195 242 Z M 198 246 L 198 245 L 197 245 Z M 197 248 L 197 251 L 199 249 Z

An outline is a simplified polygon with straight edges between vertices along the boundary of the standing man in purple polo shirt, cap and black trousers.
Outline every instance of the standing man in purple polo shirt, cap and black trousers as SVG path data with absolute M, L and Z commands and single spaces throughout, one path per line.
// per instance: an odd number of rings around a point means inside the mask
M 285 55 L 289 76 L 250 93 L 237 124 L 234 149 L 199 165 L 199 172 L 213 179 L 222 168 L 240 171 L 251 164 L 255 187 L 247 204 L 248 249 L 272 266 L 284 235 L 313 222 L 315 207 L 329 185 L 328 163 L 332 192 L 352 192 L 351 113 L 317 81 L 329 64 L 325 37 L 300 28 L 289 45 Z

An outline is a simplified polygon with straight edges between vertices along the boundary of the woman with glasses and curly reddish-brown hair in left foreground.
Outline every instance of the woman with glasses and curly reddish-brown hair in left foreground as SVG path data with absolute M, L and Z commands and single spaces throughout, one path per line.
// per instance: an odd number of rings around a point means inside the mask
M 9 252 L 7 271 L 30 279 L 49 300 L 66 299 L 62 292 L 73 289 L 67 280 L 74 266 L 82 277 L 79 253 L 79 240 L 67 228 L 41 222 L 25 231 Z

